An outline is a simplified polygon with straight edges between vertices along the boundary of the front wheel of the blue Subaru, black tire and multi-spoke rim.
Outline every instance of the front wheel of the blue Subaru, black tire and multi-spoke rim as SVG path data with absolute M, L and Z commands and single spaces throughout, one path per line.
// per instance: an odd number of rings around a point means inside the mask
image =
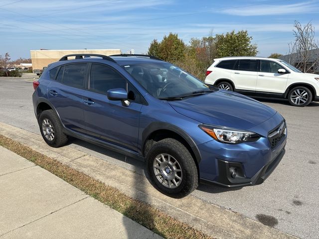
M 178 174 L 178 177 L 181 178 L 181 180 L 174 178 L 174 180 L 178 180 L 177 185 L 173 183 L 173 180 L 164 179 L 164 182 L 162 181 L 164 178 L 163 176 L 165 176 L 164 173 L 166 171 L 162 170 L 160 172 L 160 169 L 156 169 L 154 166 L 156 163 L 158 163 L 155 160 L 159 155 L 165 155 L 167 157 L 168 155 L 170 156 L 171 161 L 167 163 L 169 164 L 169 166 L 165 167 L 170 167 L 171 175 Z M 175 167 L 175 169 L 171 167 L 171 165 L 175 162 L 174 160 L 177 161 L 177 163 L 175 163 L 175 165 L 173 166 Z M 147 168 L 155 188 L 157 188 L 161 193 L 167 196 L 173 198 L 182 198 L 190 194 L 198 186 L 198 173 L 195 161 L 187 148 L 175 139 L 165 138 L 152 145 L 147 155 Z M 156 170 L 158 170 L 158 173 L 160 173 L 160 175 L 156 175 Z M 160 178 L 162 182 L 160 182 Z M 167 185 L 165 186 L 165 184 Z M 169 184 L 171 184 L 171 188 L 168 188 Z

